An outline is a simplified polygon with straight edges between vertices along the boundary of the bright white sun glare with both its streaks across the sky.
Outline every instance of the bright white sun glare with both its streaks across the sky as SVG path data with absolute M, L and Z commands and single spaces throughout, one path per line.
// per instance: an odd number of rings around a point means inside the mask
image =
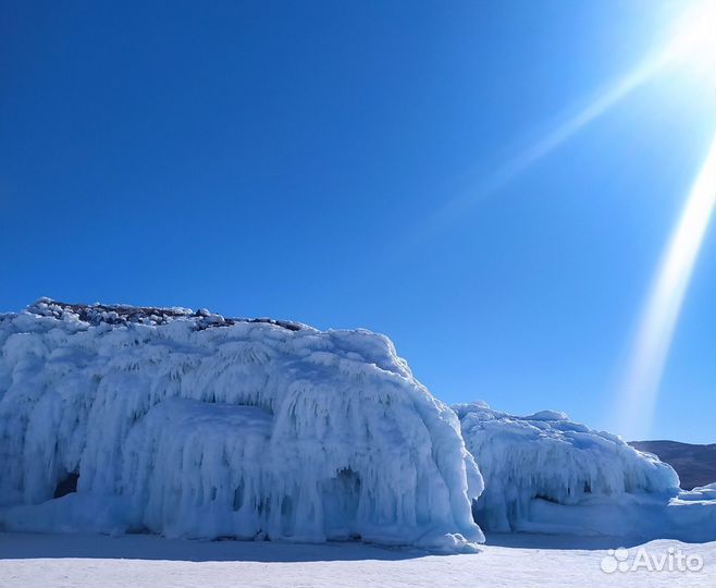
M 605 88 L 571 117 L 513 159 L 498 167 L 481 185 L 449 200 L 434 215 L 423 233 L 453 222 L 481 198 L 502 188 L 516 175 L 548 156 L 580 130 L 633 90 L 667 70 L 679 69 L 698 78 L 698 91 L 716 83 L 716 0 L 691 3 L 674 19 L 658 50 L 649 54 L 621 79 Z M 708 84 L 711 82 L 711 85 Z M 679 88 L 682 93 L 693 88 Z M 716 207 L 716 136 L 704 163 L 688 193 L 680 218 L 675 224 L 654 273 L 644 310 L 635 332 L 631 357 L 618 388 L 615 426 L 632 439 L 646 434 L 653 420 L 658 388 L 687 289 L 691 280 L 706 229 Z

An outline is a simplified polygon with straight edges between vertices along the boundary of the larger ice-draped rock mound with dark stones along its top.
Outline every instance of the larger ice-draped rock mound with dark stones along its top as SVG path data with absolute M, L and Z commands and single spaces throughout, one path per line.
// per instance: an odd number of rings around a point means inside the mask
M 40 299 L 0 315 L 9 530 L 470 549 L 455 414 L 363 330 Z

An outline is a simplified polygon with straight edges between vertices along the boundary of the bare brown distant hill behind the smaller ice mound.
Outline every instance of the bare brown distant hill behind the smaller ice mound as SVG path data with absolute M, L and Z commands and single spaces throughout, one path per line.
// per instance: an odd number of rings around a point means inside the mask
M 629 444 L 654 453 L 662 462 L 669 464 L 679 475 L 684 490 L 716 481 L 716 443 L 693 445 L 678 441 L 630 441 Z

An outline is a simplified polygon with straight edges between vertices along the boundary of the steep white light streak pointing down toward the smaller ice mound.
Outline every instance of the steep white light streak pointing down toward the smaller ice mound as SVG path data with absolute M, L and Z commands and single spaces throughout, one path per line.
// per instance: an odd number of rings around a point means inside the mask
M 715 206 L 716 137 L 667 243 L 637 331 L 617 406 L 618 430 L 630 439 L 650 432 L 679 311 Z

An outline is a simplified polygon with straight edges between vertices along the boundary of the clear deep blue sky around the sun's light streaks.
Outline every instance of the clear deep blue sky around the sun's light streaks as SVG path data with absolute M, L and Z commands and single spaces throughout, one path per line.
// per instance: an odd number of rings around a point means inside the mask
M 614 427 L 713 82 L 667 68 L 503 172 L 686 2 L 149 4 L 4 7 L 0 308 L 366 327 L 447 402 Z M 652 438 L 716 440 L 715 262 L 712 223 Z

